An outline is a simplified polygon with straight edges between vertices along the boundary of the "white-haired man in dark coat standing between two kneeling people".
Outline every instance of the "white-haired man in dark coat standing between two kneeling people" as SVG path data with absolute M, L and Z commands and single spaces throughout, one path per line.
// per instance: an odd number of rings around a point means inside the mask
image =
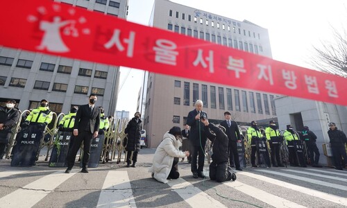
M 208 114 L 203 112 L 203 101 L 197 100 L 195 102 L 195 109 L 189 112 L 187 116 L 187 124 L 190 125 L 190 141 L 192 144 L 192 173 L 194 178 L 202 177 L 203 163 L 205 162 L 205 144 L 206 135 L 203 131 L 203 123 L 201 118 L 208 119 Z

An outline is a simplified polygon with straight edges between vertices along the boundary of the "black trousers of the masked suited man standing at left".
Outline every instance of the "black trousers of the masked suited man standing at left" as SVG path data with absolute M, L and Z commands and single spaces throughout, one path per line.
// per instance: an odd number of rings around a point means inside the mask
M 72 168 L 75 164 L 75 159 L 78 150 L 81 147 L 83 142 L 83 159 L 82 159 L 82 167 L 85 168 L 89 162 L 90 156 L 90 145 L 92 144 L 93 134 L 90 131 L 78 131 L 78 136 L 74 137 L 74 141 L 72 143 L 71 152 L 67 155 L 67 167 Z

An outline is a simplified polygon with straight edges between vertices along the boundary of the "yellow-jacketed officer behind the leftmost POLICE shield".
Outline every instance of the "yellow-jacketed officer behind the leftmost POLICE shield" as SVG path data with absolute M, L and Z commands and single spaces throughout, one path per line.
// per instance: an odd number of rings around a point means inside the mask
M 39 107 L 35 108 L 29 115 L 26 117 L 24 123 L 22 123 L 22 127 L 26 127 L 30 125 L 37 125 L 38 127 L 46 128 L 46 125 L 51 123 L 53 119 L 53 112 L 49 110 L 49 102 L 46 99 L 41 101 Z

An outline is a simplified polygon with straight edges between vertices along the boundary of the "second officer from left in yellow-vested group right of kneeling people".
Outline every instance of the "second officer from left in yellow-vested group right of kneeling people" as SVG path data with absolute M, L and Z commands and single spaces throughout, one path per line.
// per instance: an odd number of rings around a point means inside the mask
M 270 121 L 269 127 L 265 128 L 265 135 L 267 141 L 269 141 L 271 148 L 271 162 L 274 167 L 283 167 L 280 159 L 280 144 L 282 139 L 280 138 L 280 131 L 276 126 L 276 121 Z

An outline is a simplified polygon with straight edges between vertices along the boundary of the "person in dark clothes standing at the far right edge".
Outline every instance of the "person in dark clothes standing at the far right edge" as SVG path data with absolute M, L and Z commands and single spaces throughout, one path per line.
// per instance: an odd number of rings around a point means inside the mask
M 347 166 L 347 155 L 345 144 L 347 144 L 347 138 L 343 131 L 338 130 L 336 124 L 329 123 L 328 135 L 331 144 L 332 156 L 335 160 L 335 169 L 342 170 L 344 166 Z M 342 164 L 341 156 L 344 157 L 345 164 Z

